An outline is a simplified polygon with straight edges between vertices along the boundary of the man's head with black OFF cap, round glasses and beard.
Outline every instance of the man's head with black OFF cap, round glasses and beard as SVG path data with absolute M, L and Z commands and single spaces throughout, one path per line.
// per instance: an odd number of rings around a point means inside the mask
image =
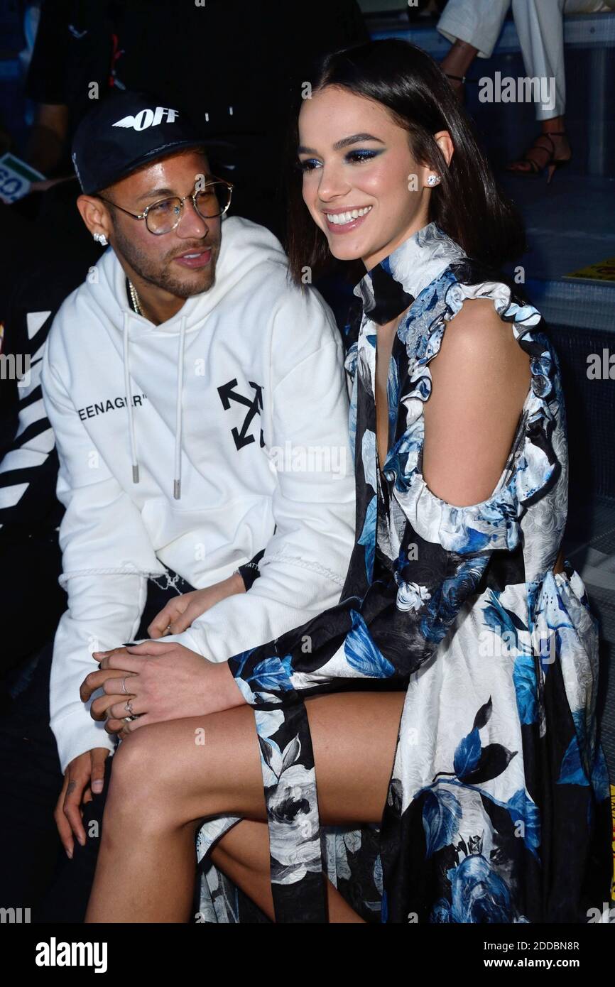
M 217 218 L 225 214 L 230 204 L 232 185 L 205 175 L 202 153 L 192 154 L 190 158 L 191 163 L 196 164 L 191 173 L 190 194 L 192 191 L 195 194 L 193 209 L 199 219 L 213 218 L 216 222 L 206 224 L 210 229 L 203 230 L 198 238 L 194 257 L 190 250 L 192 244 L 186 243 L 191 237 L 181 238 L 181 246 L 188 249 L 179 254 L 177 235 L 175 238 L 167 236 L 178 228 L 176 220 L 183 213 L 186 197 L 167 197 L 171 189 L 164 187 L 164 182 L 170 169 L 177 171 L 177 163 L 174 166 L 169 156 L 191 149 L 202 152 L 205 146 L 209 148 L 211 142 L 205 144 L 202 134 L 193 129 L 185 114 L 160 106 L 155 98 L 133 93 L 103 101 L 95 112 L 84 118 L 73 140 L 72 162 L 84 192 L 78 199 L 83 221 L 101 243 L 107 240 L 108 233 L 113 233 L 115 253 L 121 258 L 122 266 L 127 268 L 131 300 L 142 296 L 141 302 L 136 304 L 150 306 L 148 314 L 155 324 L 175 315 L 186 298 L 210 288 L 215 276 L 220 246 Z M 181 164 L 185 165 L 186 160 Z M 145 166 L 149 167 L 145 170 Z M 182 170 L 186 171 L 186 168 Z M 134 174 L 136 172 L 138 174 Z M 126 185 L 124 177 L 130 175 L 132 178 Z M 112 187 L 122 178 L 122 190 L 135 199 L 139 207 L 137 213 L 124 208 L 112 194 Z M 142 194 L 137 194 L 141 190 Z M 119 195 L 120 201 L 121 198 Z M 145 212 L 141 206 L 146 204 Z M 140 227 L 119 222 L 119 212 L 133 219 L 142 218 L 144 222 Z M 186 225 L 184 219 L 183 229 Z M 97 231 L 95 227 L 98 226 L 101 230 Z M 200 226 L 202 223 L 199 223 L 198 232 Z M 160 235 L 166 239 L 156 239 Z M 170 239 L 175 241 L 171 250 Z M 173 262 L 177 263 L 174 265 Z M 189 271 L 193 271 L 192 276 Z M 138 285 L 138 294 L 135 285 Z M 149 301 L 146 302 L 147 297 Z

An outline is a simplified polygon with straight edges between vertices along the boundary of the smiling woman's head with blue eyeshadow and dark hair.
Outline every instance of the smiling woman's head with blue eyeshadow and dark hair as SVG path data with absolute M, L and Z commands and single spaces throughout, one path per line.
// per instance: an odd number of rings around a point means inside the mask
M 383 249 L 401 242 L 420 210 L 423 223 L 437 222 L 470 257 L 498 265 L 519 255 L 519 217 L 496 187 L 470 120 L 440 91 L 438 66 L 415 48 L 421 70 L 410 73 L 407 44 L 392 43 L 386 56 L 386 76 L 384 66 L 382 74 L 365 73 L 351 58 L 324 60 L 310 98 L 298 102 L 287 144 L 288 253 L 295 276 L 305 265 L 317 276 L 335 258 L 361 257 L 373 266 L 386 256 Z M 428 200 L 425 184 L 437 187 Z M 346 233 L 357 237 L 343 242 Z

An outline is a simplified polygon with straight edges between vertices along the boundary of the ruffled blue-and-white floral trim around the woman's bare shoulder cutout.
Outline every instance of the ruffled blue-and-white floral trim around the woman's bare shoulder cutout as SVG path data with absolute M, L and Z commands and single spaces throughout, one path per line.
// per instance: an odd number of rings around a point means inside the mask
M 545 337 L 536 331 L 541 316 L 533 306 L 512 301 L 510 289 L 500 282 L 462 284 L 450 274 L 447 280 L 443 317 L 425 324 L 419 342 L 413 332 L 409 357 L 414 366 L 402 398 L 406 430 L 389 452 L 384 475 L 404 516 L 424 541 L 461 556 L 512 551 L 519 543 L 526 506 L 543 495 L 559 473 L 552 445 L 560 411 L 557 368 Z M 439 352 L 446 323 L 466 298 L 491 298 L 500 318 L 510 323 L 515 339 L 530 354 L 531 386 L 495 491 L 480 503 L 459 507 L 431 493 L 423 479 L 423 408 L 431 394 L 429 363 Z

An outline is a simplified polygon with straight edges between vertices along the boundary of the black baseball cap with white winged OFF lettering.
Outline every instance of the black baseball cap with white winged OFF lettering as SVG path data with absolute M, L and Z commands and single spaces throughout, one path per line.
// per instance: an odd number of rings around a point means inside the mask
M 75 131 L 73 167 L 81 190 L 91 195 L 114 185 L 140 165 L 182 147 L 217 147 L 188 114 L 146 93 L 115 92 L 97 101 Z

